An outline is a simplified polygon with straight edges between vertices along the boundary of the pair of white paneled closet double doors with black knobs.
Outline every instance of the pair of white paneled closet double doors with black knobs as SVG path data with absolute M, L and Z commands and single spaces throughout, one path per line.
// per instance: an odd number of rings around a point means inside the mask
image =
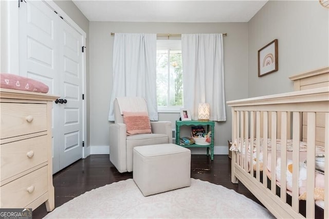
M 56 173 L 82 157 L 83 54 L 78 53 L 83 38 L 42 1 L 22 3 L 19 16 L 20 75 L 42 81 L 49 94 L 67 100 L 53 104 Z

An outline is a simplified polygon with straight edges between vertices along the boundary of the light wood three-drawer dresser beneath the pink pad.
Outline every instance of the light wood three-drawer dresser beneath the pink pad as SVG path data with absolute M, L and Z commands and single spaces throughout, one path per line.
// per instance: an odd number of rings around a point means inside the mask
M 0 89 L 0 208 L 54 209 L 52 101 L 56 96 Z

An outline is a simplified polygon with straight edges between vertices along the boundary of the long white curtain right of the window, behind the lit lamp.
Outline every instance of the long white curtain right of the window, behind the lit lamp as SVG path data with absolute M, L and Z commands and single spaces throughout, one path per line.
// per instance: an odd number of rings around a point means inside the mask
M 197 120 L 199 103 L 210 104 L 210 120 L 226 121 L 223 34 L 181 34 L 184 107 Z

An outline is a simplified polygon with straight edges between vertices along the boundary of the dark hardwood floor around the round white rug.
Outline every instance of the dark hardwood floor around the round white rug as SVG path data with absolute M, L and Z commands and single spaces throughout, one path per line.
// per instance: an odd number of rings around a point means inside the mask
M 108 156 L 90 155 L 54 174 L 55 207 L 92 189 L 133 178 L 133 173 L 119 173 L 109 161 Z M 231 159 L 227 155 L 214 155 L 213 161 L 207 155 L 192 155 L 191 177 L 233 189 L 260 204 L 258 199 L 240 182 L 239 184 L 231 183 Z M 33 219 L 43 218 L 47 213 L 43 204 L 33 210 Z

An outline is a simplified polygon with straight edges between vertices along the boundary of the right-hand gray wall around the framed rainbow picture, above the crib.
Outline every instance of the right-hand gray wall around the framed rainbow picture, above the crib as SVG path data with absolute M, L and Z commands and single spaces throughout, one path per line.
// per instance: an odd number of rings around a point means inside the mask
M 290 92 L 289 76 L 329 65 L 328 9 L 318 1 L 269 1 L 248 22 L 249 97 Z M 258 50 L 278 39 L 279 70 L 258 77 Z

